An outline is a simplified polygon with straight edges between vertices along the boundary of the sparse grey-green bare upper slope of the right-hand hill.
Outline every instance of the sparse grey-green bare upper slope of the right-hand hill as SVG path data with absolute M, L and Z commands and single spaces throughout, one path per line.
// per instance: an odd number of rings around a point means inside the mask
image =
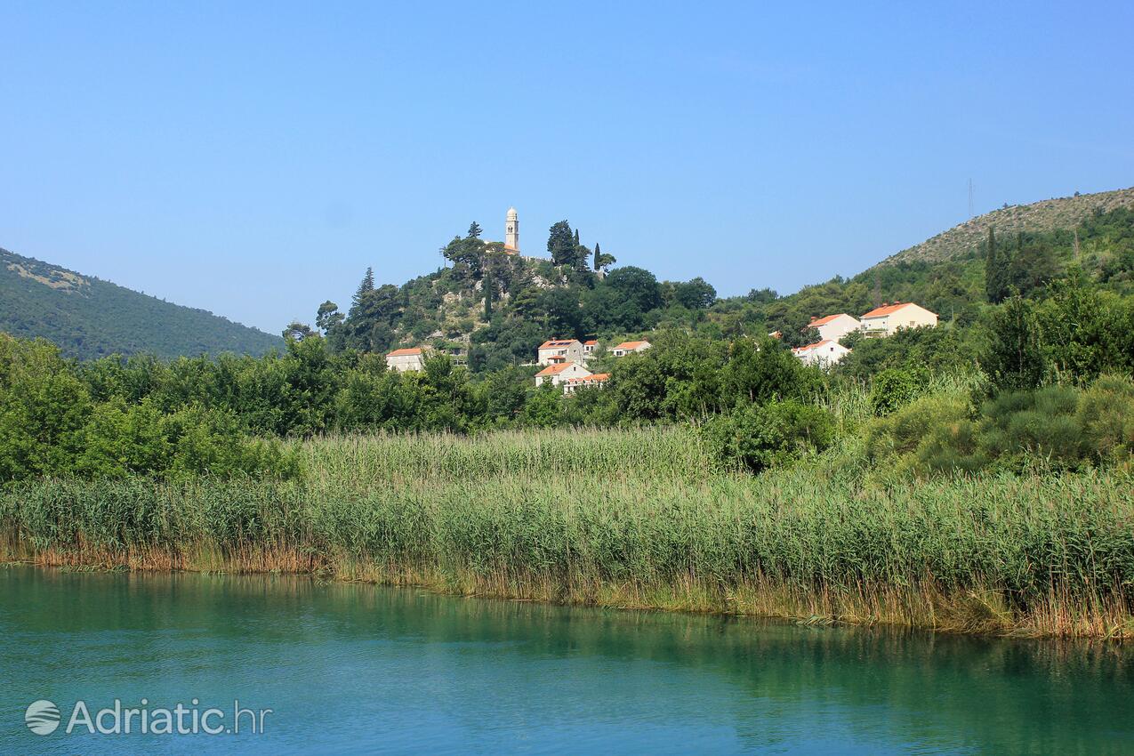
M 1001 238 L 1019 231 L 1070 229 L 1094 212 L 1108 212 L 1119 207 L 1134 207 L 1134 187 L 1041 199 L 1027 205 L 1009 205 L 971 218 L 921 244 L 890 255 L 878 265 L 919 261 L 937 263 L 962 257 L 980 248 L 981 243 L 988 238 L 990 228 L 995 228 L 997 236 Z

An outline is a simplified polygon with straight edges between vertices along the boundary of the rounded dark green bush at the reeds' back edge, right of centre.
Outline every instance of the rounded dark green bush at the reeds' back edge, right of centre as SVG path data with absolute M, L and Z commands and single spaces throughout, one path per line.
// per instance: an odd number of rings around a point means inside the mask
M 718 415 L 702 433 L 721 465 L 760 473 L 827 449 L 835 439 L 835 419 L 812 405 L 771 401 Z

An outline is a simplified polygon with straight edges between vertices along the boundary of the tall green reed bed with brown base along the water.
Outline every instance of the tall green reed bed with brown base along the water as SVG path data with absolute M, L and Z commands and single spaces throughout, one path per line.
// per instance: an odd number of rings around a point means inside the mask
M 687 430 L 341 436 L 303 482 L 41 481 L 0 492 L 0 555 L 612 606 L 1134 636 L 1123 473 L 862 486 L 714 470 Z

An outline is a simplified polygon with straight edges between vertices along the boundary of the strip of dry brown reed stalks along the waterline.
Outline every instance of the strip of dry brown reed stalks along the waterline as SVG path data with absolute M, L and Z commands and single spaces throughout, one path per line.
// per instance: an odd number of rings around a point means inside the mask
M 887 627 L 978 637 L 1115 642 L 1134 638 L 1134 615 L 1118 606 L 1076 606 L 1069 596 L 1052 591 L 1047 602 L 1019 612 L 1006 604 L 1004 592 L 974 588 L 950 593 L 929 581 L 904 588 L 858 585 L 852 589 L 818 592 L 793 588 L 762 577 L 730 586 L 695 576 L 666 583 L 612 583 L 582 575 L 561 579 L 508 568 L 480 575 L 469 569 L 447 569 L 437 564 L 382 564 L 359 560 L 329 563 L 296 550 L 252 549 L 232 555 L 221 555 L 210 549 L 176 554 L 162 549 L 135 549 L 125 553 L 68 552 L 28 550 L 10 540 L 0 547 L 0 564 L 105 572 L 306 576 L 342 584 L 417 588 L 457 597 L 751 617 L 806 626 Z

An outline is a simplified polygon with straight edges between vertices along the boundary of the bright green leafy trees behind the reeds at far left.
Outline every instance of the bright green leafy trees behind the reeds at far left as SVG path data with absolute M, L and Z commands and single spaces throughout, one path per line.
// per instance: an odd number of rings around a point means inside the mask
M 0 482 L 298 474 L 294 453 L 249 438 L 231 411 L 166 409 L 170 394 L 156 372 L 144 359 L 78 371 L 54 346 L 0 334 Z

